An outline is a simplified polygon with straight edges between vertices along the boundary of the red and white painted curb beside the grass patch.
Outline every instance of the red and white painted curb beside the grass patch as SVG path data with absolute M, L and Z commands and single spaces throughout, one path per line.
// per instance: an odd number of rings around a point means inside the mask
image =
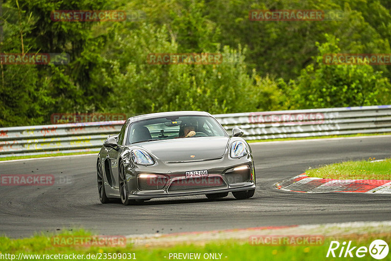
M 277 189 L 302 193 L 355 192 L 391 194 L 391 180 L 331 179 L 295 176 L 275 184 Z

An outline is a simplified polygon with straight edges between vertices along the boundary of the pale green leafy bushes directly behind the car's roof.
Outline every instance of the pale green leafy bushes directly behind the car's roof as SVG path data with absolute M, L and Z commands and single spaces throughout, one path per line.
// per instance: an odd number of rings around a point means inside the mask
M 149 64 L 150 53 L 178 53 L 178 44 L 168 36 L 165 26 L 156 28 L 146 23 L 130 33 L 125 27 L 117 28 L 110 46 L 112 52 L 104 57 L 108 66 L 94 72 L 96 84 L 113 90 L 108 109 L 129 114 L 255 109 L 251 100 L 252 80 L 247 75 L 240 46 L 238 50 L 223 47 L 220 64 Z

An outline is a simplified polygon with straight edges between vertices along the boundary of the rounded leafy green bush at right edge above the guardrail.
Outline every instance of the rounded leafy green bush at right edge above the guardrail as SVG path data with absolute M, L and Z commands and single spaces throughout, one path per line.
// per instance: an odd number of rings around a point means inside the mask
M 302 70 L 294 86 L 295 109 L 369 106 L 389 103 L 391 85 L 382 72 L 370 65 L 326 65 L 323 55 L 340 53 L 339 40 L 325 35 L 327 42 L 317 43 L 315 65 Z

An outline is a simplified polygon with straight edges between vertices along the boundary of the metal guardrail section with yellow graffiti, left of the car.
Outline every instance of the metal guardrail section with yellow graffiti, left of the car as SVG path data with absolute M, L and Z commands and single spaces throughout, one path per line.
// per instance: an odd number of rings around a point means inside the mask
M 0 128 L 0 157 L 67 152 L 98 152 L 124 121 L 84 122 Z

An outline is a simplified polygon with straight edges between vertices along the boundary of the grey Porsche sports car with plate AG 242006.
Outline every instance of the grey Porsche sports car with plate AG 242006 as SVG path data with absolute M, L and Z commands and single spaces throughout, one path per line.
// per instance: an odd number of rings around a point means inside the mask
M 229 136 L 207 112 L 173 111 L 129 118 L 110 135 L 96 163 L 99 199 L 124 205 L 155 197 L 204 194 L 250 198 L 251 149 L 239 128 Z

